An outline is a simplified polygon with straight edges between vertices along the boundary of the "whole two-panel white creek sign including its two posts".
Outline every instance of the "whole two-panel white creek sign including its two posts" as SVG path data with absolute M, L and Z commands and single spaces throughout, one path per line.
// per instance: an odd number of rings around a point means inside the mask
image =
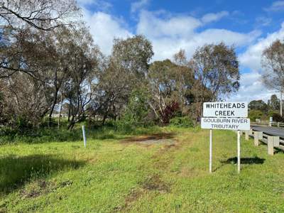
M 237 131 L 238 173 L 241 171 L 241 131 L 251 128 L 246 102 L 205 102 L 201 128 L 210 129 L 209 173 L 212 173 L 212 129 L 231 129 Z

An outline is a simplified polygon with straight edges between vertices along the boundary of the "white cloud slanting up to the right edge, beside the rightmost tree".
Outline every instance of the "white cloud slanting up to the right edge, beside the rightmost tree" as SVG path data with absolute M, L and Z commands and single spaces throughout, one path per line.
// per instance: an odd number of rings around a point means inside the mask
M 251 68 L 251 70 L 258 70 L 261 72 L 261 55 L 263 50 L 267 48 L 276 39 L 284 38 L 284 22 L 279 31 L 268 34 L 266 38 L 260 38 L 255 44 L 250 45 L 246 52 L 239 55 L 241 65 Z

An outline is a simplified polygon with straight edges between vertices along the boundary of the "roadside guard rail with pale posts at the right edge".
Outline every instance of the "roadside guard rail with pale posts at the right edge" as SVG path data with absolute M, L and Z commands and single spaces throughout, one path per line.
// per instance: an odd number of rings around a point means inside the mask
M 245 133 L 246 140 L 249 137 L 254 138 L 254 146 L 259 146 L 260 143 L 265 143 L 268 146 L 268 154 L 273 155 L 275 150 L 284 151 L 284 138 L 280 136 L 273 136 L 263 131 L 241 131 L 241 134 Z

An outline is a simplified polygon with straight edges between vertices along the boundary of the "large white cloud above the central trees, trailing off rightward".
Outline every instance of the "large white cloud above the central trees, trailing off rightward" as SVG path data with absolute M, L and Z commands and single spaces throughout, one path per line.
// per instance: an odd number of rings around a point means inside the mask
M 190 57 L 198 46 L 207 43 L 224 41 L 227 45 L 238 47 L 249 45 L 260 34 L 258 31 L 237 33 L 218 28 L 197 32 L 201 26 L 204 26 L 204 23 L 192 16 L 171 16 L 168 13 L 141 11 L 136 33 L 146 35 L 151 40 L 155 53 L 154 60 L 172 58 L 180 48 L 185 49 L 187 56 Z

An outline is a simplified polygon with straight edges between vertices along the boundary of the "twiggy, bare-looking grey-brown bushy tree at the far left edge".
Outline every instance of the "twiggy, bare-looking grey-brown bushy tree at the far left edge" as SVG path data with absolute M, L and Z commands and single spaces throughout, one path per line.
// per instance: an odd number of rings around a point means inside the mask
M 3 107 L 0 119 L 11 126 L 37 126 L 50 107 L 43 85 L 25 73 L 0 80 L 0 90 Z

